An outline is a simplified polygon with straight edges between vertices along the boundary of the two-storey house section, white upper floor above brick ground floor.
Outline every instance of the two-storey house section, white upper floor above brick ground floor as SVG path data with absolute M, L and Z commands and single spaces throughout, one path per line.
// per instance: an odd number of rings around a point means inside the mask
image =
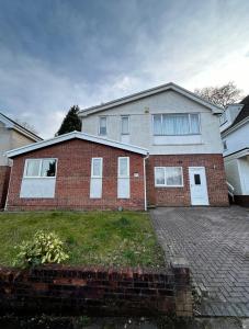
M 223 110 L 167 83 L 80 112 L 82 132 L 148 148 L 149 205 L 226 206 Z

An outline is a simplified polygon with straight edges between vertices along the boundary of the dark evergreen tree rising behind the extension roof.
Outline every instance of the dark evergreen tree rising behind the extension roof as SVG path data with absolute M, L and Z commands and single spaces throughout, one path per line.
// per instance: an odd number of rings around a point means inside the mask
M 78 105 L 70 107 L 56 135 L 64 135 L 73 131 L 81 132 L 81 121 L 78 116 L 79 111 Z

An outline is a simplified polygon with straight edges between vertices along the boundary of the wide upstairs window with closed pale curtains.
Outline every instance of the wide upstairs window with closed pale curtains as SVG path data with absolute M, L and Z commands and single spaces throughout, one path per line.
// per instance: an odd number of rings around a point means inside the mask
M 179 136 L 200 134 L 200 114 L 155 114 L 154 135 Z

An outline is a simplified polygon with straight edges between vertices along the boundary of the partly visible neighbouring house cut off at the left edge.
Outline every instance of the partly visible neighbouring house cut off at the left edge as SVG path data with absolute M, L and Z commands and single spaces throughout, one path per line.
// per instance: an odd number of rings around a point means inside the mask
M 10 178 L 10 160 L 4 152 L 9 149 L 42 140 L 10 117 L 0 113 L 0 209 L 3 208 Z

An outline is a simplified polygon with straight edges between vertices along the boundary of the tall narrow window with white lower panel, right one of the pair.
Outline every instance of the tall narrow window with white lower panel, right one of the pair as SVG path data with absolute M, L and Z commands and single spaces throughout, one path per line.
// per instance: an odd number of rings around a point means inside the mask
M 117 164 L 117 197 L 129 198 L 129 158 L 120 157 Z

